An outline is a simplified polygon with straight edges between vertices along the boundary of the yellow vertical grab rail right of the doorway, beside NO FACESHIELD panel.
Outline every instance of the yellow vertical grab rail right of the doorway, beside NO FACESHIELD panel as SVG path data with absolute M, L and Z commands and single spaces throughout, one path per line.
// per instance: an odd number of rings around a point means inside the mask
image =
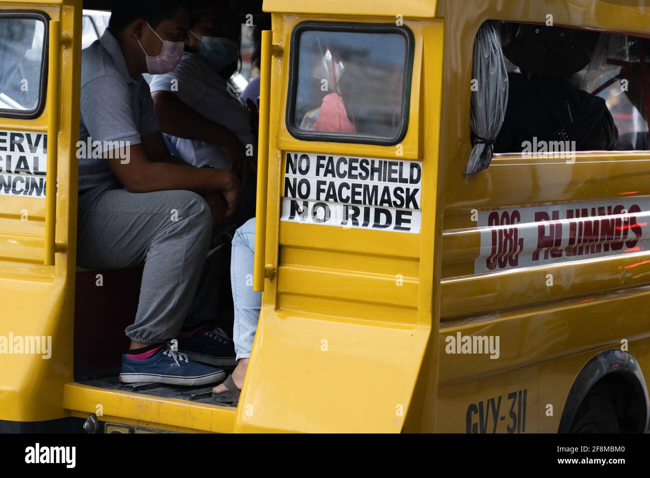
M 253 290 L 264 291 L 266 253 L 266 200 L 268 193 L 268 118 L 271 90 L 271 43 L 273 32 L 262 32 L 259 79 L 259 142 L 257 145 L 257 204 L 255 207 L 255 269 Z

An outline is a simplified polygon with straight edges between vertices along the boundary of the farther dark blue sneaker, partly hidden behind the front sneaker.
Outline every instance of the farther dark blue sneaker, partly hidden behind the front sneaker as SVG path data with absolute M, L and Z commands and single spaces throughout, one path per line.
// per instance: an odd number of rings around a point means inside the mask
M 216 367 L 235 367 L 235 342 L 221 328 L 206 327 L 192 337 L 179 338 L 178 350 L 190 360 Z

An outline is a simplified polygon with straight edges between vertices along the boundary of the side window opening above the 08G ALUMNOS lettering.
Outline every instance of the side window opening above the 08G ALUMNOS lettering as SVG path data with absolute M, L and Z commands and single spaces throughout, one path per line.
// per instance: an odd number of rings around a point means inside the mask
M 484 116 L 474 103 L 498 113 L 486 103 L 495 95 L 489 90 L 495 82 L 480 85 L 478 78 L 471 92 L 474 148 L 485 140 L 494 153 L 533 157 L 650 150 L 650 39 L 542 24 L 491 24 L 500 27 L 501 49 L 491 59 L 476 55 L 477 35 L 473 58 L 484 64 L 473 65 L 473 77 L 501 55 L 507 106 L 497 135 L 484 139 L 474 131 L 474 115 Z

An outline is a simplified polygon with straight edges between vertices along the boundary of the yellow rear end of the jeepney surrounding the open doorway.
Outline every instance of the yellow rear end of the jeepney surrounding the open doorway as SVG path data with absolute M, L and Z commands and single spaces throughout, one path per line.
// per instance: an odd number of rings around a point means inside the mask
M 8 332 L 0 335 L 51 338 L 47 359 L 1 357 L 3 427 L 400 432 L 413 417 L 407 428 L 434 431 L 444 31 L 433 18 L 435 2 L 409 3 L 402 12 L 387 1 L 337 1 L 328 12 L 265 4 L 273 16 L 263 38 L 251 278 L 264 289 L 263 309 L 236 408 L 209 403 L 209 393 L 91 380 L 81 373 L 89 364 L 73 360 L 73 351 L 85 356 L 80 334 L 93 324 L 97 272 L 75 274 L 74 259 L 83 7 L 107 8 L 80 0 L 0 1 L 0 21 L 19 30 L 27 52 L 16 53 L 14 38 L 5 53 L 16 66 L 29 66 L 34 88 L 29 104 L 19 104 L 24 94 L 7 94 L 0 108 L 0 155 L 25 155 L 20 168 L 3 170 L 2 180 L 16 187 L 1 190 L 8 193 L 0 281 L 12 301 L 1 320 Z M 58 194 L 45 192 L 45 170 Z M 24 209 L 29 219 L 21 220 Z M 129 271 L 111 273 L 110 283 L 136 287 Z M 76 298 L 76 316 L 75 276 L 90 284 Z M 108 299 L 101 304 L 124 297 Z M 110 345 L 115 336 L 105 330 L 101 337 Z

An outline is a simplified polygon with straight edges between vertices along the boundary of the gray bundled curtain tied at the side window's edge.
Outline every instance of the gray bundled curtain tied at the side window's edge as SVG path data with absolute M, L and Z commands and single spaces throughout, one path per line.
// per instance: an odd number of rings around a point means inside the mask
M 508 72 L 501 50 L 500 25 L 486 21 L 474 40 L 472 79 L 478 91 L 472 91 L 470 128 L 472 153 L 465 175 L 476 174 L 489 166 L 494 141 L 503 126 L 508 106 Z

